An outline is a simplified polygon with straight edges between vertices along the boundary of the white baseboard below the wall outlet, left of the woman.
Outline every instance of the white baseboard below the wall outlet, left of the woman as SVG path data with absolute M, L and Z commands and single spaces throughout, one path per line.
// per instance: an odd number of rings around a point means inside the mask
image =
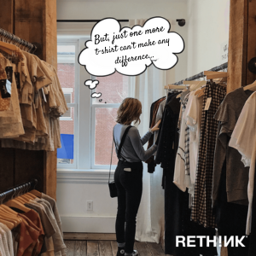
M 63 232 L 115 233 L 115 216 L 61 216 Z

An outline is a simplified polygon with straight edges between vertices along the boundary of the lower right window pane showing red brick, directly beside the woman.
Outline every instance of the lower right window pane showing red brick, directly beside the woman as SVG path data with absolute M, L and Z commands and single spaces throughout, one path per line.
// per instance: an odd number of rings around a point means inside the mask
M 118 108 L 96 108 L 95 128 L 95 165 L 109 165 L 113 143 L 113 126 Z M 117 165 L 118 159 L 113 146 L 112 165 Z

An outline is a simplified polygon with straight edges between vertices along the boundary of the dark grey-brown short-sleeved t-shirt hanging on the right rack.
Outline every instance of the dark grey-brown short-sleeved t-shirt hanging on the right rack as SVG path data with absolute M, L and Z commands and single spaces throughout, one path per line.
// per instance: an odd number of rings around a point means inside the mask
M 229 142 L 234 131 L 237 119 L 241 114 L 252 91 L 238 88 L 224 97 L 224 101 L 215 113 L 214 119 L 219 121 L 219 132 L 214 155 L 212 206 L 215 207 L 219 196 L 219 184 L 226 160 L 226 193 L 227 201 L 242 205 L 248 204 L 247 184 L 249 168 L 241 163 L 241 154 L 236 148 L 230 148 Z

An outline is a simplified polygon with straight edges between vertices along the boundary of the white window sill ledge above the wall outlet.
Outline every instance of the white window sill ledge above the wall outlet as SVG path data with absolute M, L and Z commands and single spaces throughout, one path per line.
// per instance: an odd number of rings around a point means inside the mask
M 113 181 L 114 170 L 110 180 Z M 108 183 L 109 170 L 98 169 L 57 169 L 57 183 Z

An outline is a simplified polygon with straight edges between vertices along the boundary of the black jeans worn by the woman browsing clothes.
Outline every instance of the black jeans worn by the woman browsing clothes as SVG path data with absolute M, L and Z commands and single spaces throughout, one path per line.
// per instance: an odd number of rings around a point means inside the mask
M 131 169 L 131 172 L 124 169 Z M 119 160 L 114 172 L 118 192 L 118 212 L 115 223 L 117 242 L 125 242 L 125 253 L 133 252 L 137 210 L 143 194 L 143 162 Z

